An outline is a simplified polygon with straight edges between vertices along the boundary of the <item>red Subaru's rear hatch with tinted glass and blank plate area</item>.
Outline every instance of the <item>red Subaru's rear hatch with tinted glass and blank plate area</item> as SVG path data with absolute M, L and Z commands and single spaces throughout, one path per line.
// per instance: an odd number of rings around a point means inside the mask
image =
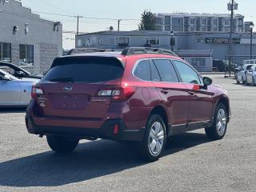
M 104 118 L 124 66 L 118 58 L 64 57 L 54 63 L 34 90 L 41 114 L 62 118 Z M 110 88 L 109 88 L 110 87 Z M 103 93 L 103 94 L 102 94 Z

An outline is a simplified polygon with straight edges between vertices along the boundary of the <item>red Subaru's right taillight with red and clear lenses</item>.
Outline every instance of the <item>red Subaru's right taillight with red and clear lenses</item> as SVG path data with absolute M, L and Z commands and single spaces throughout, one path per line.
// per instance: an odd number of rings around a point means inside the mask
M 113 101 L 124 101 L 130 98 L 136 91 L 134 86 L 111 87 L 98 91 L 98 96 L 111 97 Z

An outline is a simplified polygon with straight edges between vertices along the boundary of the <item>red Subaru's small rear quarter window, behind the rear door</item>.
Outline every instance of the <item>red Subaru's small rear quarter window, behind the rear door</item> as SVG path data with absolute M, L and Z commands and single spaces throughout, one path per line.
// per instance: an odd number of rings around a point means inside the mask
M 142 60 L 138 62 L 134 70 L 134 76 L 145 81 L 150 81 L 150 60 Z

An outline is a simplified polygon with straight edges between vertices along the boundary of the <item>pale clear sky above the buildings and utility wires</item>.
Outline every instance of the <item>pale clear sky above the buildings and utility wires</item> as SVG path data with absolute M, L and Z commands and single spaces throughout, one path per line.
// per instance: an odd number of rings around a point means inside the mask
M 228 14 L 226 4 L 228 0 L 22 0 L 22 5 L 34 11 L 49 12 L 54 14 L 83 15 L 92 18 L 131 18 L 140 19 L 143 10 L 154 13 L 215 13 Z M 245 21 L 256 23 L 255 0 L 237 0 L 236 14 L 244 15 Z M 61 21 L 63 30 L 75 31 L 76 18 L 58 17 L 40 14 L 42 18 Z M 122 21 L 120 30 L 136 30 L 138 20 Z M 106 30 L 114 26 L 117 30 L 117 21 L 82 18 L 80 20 L 81 32 Z M 256 27 L 255 27 L 256 28 Z M 67 38 L 67 39 L 66 39 Z M 63 47 L 74 46 L 74 34 L 63 34 Z

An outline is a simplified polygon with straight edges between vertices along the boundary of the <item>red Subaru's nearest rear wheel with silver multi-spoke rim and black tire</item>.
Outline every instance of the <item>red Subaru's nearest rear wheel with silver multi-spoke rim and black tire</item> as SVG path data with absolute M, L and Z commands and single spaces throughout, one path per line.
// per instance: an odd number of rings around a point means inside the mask
M 166 145 L 166 126 L 158 114 L 152 114 L 146 123 L 142 142 L 135 143 L 135 149 L 146 162 L 154 162 L 161 157 Z

